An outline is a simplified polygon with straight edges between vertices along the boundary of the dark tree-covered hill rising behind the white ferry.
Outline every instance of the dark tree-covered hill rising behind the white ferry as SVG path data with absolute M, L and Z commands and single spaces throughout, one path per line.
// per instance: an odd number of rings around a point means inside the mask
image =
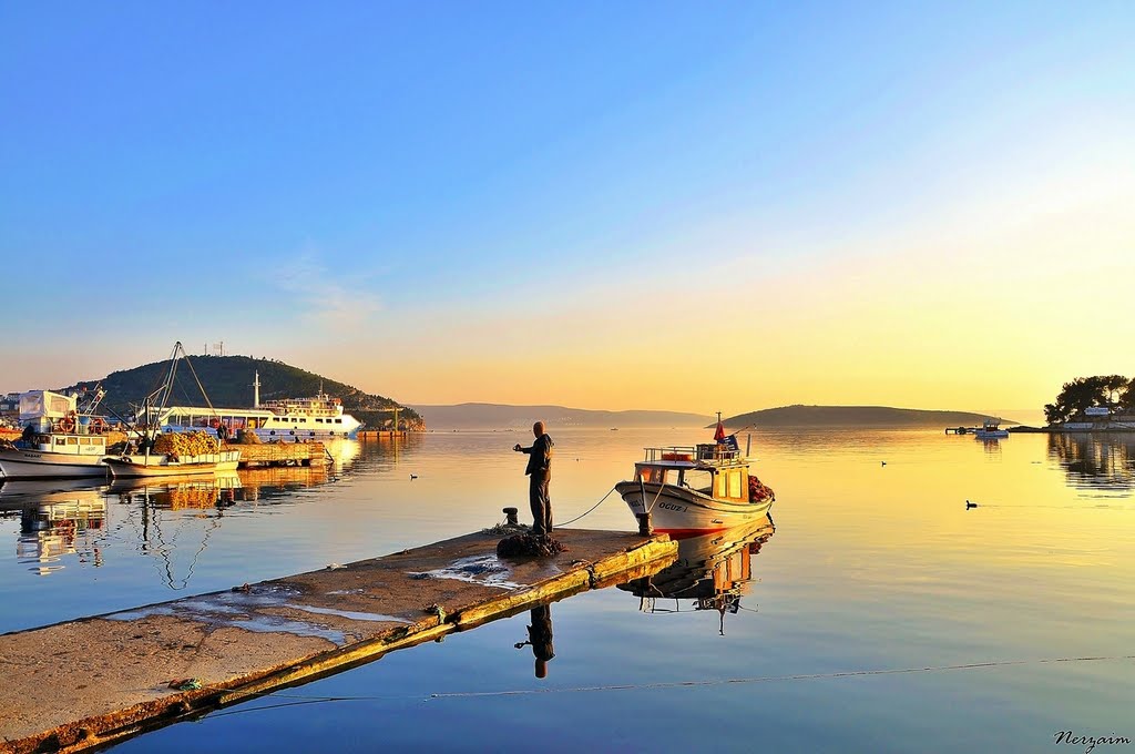
M 192 369 L 191 369 L 192 367 Z M 343 401 L 343 408 L 370 427 L 381 426 L 393 413 L 381 409 L 401 408 L 400 419 L 414 429 L 424 428 L 421 416 L 393 399 L 373 395 L 363 391 L 293 367 L 272 359 L 251 357 L 195 355 L 188 363 L 177 367 L 174 392 L 170 399 L 177 405 L 207 405 L 205 399 L 193 378 L 196 374 L 209 395 L 209 403 L 224 408 L 251 408 L 253 403 L 252 383 L 260 375 L 260 400 L 270 401 L 288 397 L 309 397 L 320 388 L 328 395 Z M 64 391 L 93 388 L 101 383 L 107 396 L 102 405 L 118 413 L 132 413 L 146 395 L 155 391 L 169 374 L 169 359 L 155 361 L 133 369 L 124 369 L 104 378 L 77 383 Z

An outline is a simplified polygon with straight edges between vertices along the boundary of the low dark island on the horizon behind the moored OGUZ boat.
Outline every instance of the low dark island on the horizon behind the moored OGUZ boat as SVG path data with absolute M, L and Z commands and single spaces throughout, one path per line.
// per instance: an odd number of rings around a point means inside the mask
M 968 411 L 925 411 L 885 405 L 783 405 L 722 419 L 740 427 L 975 427 L 991 418 Z M 997 417 L 992 417 L 997 418 Z M 1020 424 L 1001 418 L 1003 425 Z M 712 425 L 711 425 L 712 426 Z

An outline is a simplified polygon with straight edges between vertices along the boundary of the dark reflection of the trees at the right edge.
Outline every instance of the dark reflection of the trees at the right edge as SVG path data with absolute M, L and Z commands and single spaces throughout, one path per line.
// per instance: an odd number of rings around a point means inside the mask
M 1076 488 L 1130 489 L 1135 486 L 1135 434 L 1050 434 L 1049 459 Z

